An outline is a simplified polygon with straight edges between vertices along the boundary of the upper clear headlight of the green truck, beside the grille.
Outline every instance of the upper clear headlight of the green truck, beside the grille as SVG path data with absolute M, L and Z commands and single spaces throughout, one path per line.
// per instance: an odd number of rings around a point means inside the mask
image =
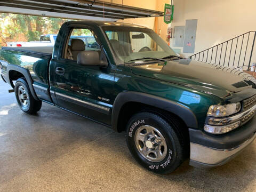
M 226 117 L 233 115 L 241 109 L 241 103 L 231 103 L 228 105 L 212 105 L 209 107 L 207 116 Z

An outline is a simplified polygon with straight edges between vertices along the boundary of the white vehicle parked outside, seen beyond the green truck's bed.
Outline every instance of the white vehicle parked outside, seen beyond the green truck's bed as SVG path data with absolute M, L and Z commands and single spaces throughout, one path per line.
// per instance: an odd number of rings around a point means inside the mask
M 7 42 L 7 47 L 37 47 L 37 46 L 54 46 L 57 35 L 41 35 L 40 41 L 31 42 Z

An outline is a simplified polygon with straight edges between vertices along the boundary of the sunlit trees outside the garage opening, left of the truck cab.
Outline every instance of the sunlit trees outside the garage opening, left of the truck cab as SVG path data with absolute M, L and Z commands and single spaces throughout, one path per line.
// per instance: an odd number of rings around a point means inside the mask
M 39 41 L 43 34 L 57 34 L 69 19 L 0 13 L 0 47 L 6 42 Z

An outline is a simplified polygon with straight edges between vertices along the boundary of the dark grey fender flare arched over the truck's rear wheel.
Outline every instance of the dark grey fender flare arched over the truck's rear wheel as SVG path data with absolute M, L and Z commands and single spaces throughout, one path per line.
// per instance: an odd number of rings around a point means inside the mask
M 17 66 L 17 65 L 13 65 L 13 64 L 8 64 L 7 65 L 7 67 L 6 67 L 6 75 L 7 75 L 6 81 L 7 81 L 8 84 L 10 84 L 14 88 L 14 85 L 10 81 L 10 77 L 9 77 L 9 73 L 10 73 L 11 70 L 18 71 L 19 73 L 21 73 L 25 77 L 25 79 L 28 83 L 29 90 L 30 90 L 31 94 L 33 95 L 35 100 L 39 101 L 39 99 L 37 98 L 36 92 L 34 90 L 34 87 L 33 87 L 33 79 L 31 77 L 28 69 Z

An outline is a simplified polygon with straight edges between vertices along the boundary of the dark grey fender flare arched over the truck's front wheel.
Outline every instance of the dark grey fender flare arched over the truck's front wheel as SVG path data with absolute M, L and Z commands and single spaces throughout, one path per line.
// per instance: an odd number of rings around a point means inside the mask
M 180 117 L 183 122 L 190 128 L 197 128 L 197 118 L 193 111 L 189 108 L 171 100 L 167 100 L 161 97 L 157 97 L 155 95 L 150 95 L 146 93 L 133 92 L 133 91 L 125 91 L 121 92 L 117 95 L 113 110 L 112 110 L 112 126 L 115 131 L 118 131 L 118 117 L 119 111 L 123 107 L 123 105 L 127 102 L 139 102 L 145 105 L 153 106 L 156 108 L 160 108 L 166 111 L 169 111 L 178 117 Z

